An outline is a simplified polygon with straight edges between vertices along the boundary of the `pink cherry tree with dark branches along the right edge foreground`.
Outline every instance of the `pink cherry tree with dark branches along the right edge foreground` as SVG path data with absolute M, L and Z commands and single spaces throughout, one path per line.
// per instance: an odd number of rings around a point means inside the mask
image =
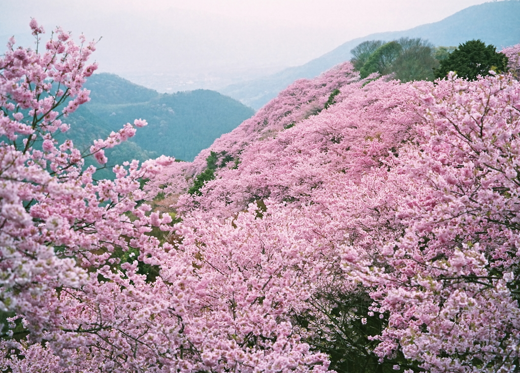
M 427 371 L 513 371 L 518 362 L 517 81 L 451 76 L 422 100 L 413 146 L 388 163 L 401 237 L 343 254 L 388 314 L 376 352 Z M 410 182 L 412 181 L 412 182 Z M 366 253 L 366 251 L 365 251 Z

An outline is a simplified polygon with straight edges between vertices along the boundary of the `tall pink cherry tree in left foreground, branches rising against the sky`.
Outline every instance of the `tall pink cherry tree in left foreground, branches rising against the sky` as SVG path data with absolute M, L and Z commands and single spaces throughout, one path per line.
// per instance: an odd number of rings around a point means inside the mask
M 170 229 L 172 218 L 139 205 L 139 179 L 173 160 L 125 163 L 114 168 L 115 181 L 94 182 L 96 169 L 83 169 L 84 157 L 106 163 L 103 149 L 133 136 L 135 128 L 126 124 L 96 140 L 89 155 L 70 140 L 57 144 L 53 134 L 68 130 L 62 119 L 88 100 L 82 84 L 97 68 L 87 63 L 95 43 L 81 36 L 76 45 L 58 28 L 40 52 L 43 27 L 34 19 L 30 26 L 36 48 L 15 48 L 11 38 L 0 58 L 0 307 L 7 321 L 1 365 L 12 371 L 139 367 L 144 363 L 136 348 L 151 344 L 137 336 L 149 329 L 142 322 L 149 321 L 144 315 L 152 306 L 135 299 L 137 289 L 149 285 L 136 274 L 137 260 L 122 263 L 119 252 L 133 251 L 142 262 L 164 254 L 147 232 L 151 226 Z M 191 277 L 186 267 L 170 270 L 171 287 Z M 179 335 L 181 323 L 173 328 Z

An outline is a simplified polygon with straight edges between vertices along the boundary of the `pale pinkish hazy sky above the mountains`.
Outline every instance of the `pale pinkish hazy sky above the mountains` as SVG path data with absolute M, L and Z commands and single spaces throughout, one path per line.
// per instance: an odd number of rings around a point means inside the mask
M 141 84 L 162 74 L 218 86 L 301 65 L 356 37 L 436 22 L 484 2 L 0 0 L 0 37 L 6 43 L 14 34 L 27 45 L 34 17 L 47 31 L 61 25 L 73 35 L 102 36 L 93 57 L 100 71 Z

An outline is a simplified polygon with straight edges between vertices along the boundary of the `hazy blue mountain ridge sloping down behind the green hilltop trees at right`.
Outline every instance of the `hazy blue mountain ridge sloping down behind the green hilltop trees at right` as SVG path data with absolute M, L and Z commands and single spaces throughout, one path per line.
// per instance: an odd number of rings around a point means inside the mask
M 259 109 L 295 80 L 314 78 L 334 65 L 349 60 L 352 57 L 350 50 L 363 41 L 422 37 L 435 45 L 458 46 L 468 40 L 480 39 L 501 49 L 520 42 L 519 20 L 518 0 L 474 5 L 439 22 L 405 31 L 381 32 L 356 38 L 305 65 L 288 68 L 265 78 L 232 84 L 218 91 Z

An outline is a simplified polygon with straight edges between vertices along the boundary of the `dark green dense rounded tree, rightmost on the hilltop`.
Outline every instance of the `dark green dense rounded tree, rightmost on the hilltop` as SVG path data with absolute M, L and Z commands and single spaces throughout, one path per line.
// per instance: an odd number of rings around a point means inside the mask
M 503 72 L 508 66 L 508 57 L 498 53 L 495 46 L 486 46 L 480 40 L 470 40 L 459 45 L 448 58 L 440 61 L 440 66 L 435 69 L 436 78 L 445 78 L 454 71 L 460 78 L 469 80 L 477 79 L 477 75 L 489 75 L 489 70 Z

